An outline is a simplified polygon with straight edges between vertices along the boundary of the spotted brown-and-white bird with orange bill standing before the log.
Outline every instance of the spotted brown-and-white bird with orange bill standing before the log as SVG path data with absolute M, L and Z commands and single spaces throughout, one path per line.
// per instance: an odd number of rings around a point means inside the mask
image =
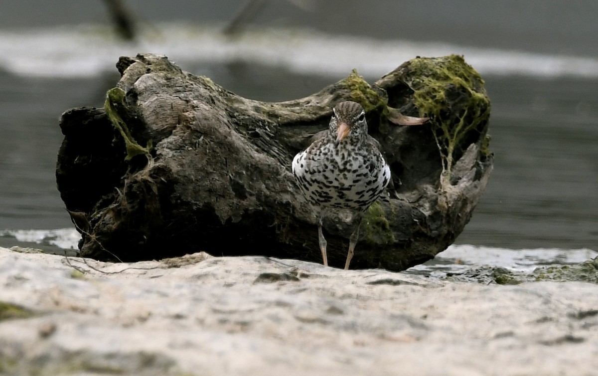
M 352 213 L 344 265 L 349 269 L 364 213 L 390 181 L 390 168 L 377 145 L 368 135 L 364 108 L 357 102 L 344 101 L 333 108 L 328 129 L 316 134 L 312 144 L 293 159 L 294 179 L 318 220 L 318 241 L 325 266 L 328 257 L 323 216 L 336 209 Z

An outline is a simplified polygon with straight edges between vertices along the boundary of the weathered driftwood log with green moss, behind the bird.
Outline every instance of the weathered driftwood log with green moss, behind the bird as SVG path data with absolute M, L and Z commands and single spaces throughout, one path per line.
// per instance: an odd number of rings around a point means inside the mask
M 80 255 L 147 260 L 195 251 L 321 262 L 315 216 L 291 174 L 294 155 L 327 128 L 331 108 L 359 102 L 392 169 L 364 217 L 353 268 L 400 271 L 448 247 L 492 170 L 490 101 L 462 56 L 420 58 L 368 84 L 357 72 L 295 101 L 242 98 L 165 56 L 121 57 L 104 108 L 73 108 L 57 185 L 81 232 Z M 428 123 L 397 126 L 401 116 Z M 343 266 L 342 213 L 324 222 Z

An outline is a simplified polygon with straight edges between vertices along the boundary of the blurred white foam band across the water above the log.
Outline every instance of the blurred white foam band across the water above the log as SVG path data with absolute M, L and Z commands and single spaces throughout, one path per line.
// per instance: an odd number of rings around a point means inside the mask
M 118 40 L 109 26 L 82 25 L 0 30 L 0 69 L 39 77 L 94 77 L 114 71 L 119 56 L 166 54 L 185 64 L 248 62 L 311 75 L 344 77 L 356 68 L 381 76 L 416 56 L 462 54 L 482 75 L 598 78 L 598 59 L 407 40 L 328 35 L 309 29 L 252 28 L 226 37 L 222 26 L 160 23 L 142 29 L 135 43 Z

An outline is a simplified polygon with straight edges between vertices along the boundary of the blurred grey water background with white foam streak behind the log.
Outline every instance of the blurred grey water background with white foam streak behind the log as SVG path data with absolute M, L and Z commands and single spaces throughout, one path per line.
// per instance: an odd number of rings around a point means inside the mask
M 166 54 L 239 95 L 283 101 L 352 68 L 373 82 L 415 56 L 457 53 L 486 80 L 495 153 L 457 244 L 598 250 L 598 2 L 121 3 L 130 29 L 108 0 L 0 2 L 0 245 L 76 244 L 54 179 L 58 119 L 103 105 L 119 56 Z

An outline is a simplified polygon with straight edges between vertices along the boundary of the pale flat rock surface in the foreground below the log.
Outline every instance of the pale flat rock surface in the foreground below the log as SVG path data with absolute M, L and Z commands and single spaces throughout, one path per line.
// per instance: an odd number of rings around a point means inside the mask
M 15 248 L 17 249 L 17 248 Z M 591 375 L 596 285 L 0 248 L 2 375 Z

